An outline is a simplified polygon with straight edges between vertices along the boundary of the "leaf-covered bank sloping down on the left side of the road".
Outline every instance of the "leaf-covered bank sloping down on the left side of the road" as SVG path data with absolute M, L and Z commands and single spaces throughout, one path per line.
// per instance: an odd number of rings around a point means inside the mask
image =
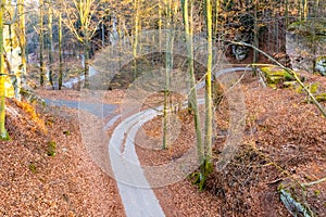
M 7 106 L 12 140 L 0 142 L 0 216 L 124 216 L 115 181 L 83 145 L 75 111 Z

